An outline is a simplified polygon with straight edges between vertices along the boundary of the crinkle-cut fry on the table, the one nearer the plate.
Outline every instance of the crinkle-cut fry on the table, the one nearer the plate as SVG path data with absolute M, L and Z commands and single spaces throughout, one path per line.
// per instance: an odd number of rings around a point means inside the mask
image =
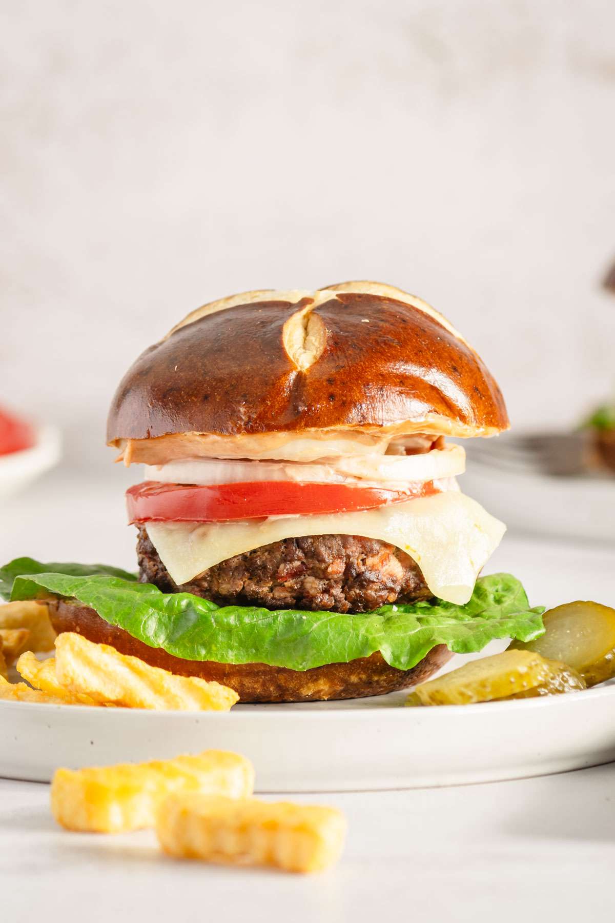
M 237 753 L 206 750 L 174 760 L 58 769 L 52 783 L 53 817 L 67 830 L 120 833 L 153 827 L 173 793 L 243 798 L 254 790 L 254 768 Z

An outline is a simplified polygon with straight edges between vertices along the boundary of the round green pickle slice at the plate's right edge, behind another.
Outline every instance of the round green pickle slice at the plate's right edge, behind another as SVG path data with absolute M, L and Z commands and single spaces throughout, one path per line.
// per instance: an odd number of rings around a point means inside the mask
M 596 686 L 615 676 L 615 609 L 577 601 L 557 605 L 542 617 L 545 633 L 535 641 L 513 641 L 509 651 L 534 651 L 568 664 Z

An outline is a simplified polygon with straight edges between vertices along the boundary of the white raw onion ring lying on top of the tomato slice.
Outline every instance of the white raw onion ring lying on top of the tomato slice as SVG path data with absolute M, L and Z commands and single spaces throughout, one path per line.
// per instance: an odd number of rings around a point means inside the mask
M 449 445 L 421 455 L 364 455 L 319 462 L 256 462 L 184 459 L 146 465 L 146 481 L 165 484 L 239 484 L 249 481 L 299 481 L 305 484 L 390 485 L 392 489 L 455 477 L 466 470 L 466 451 Z

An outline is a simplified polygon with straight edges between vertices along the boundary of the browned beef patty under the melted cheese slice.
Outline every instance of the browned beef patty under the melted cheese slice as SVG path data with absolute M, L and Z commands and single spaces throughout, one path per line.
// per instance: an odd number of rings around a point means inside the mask
M 309 535 L 285 538 L 229 557 L 178 585 L 139 527 L 139 580 L 164 593 L 195 593 L 219 605 L 371 612 L 387 603 L 430 599 L 419 565 L 375 538 Z

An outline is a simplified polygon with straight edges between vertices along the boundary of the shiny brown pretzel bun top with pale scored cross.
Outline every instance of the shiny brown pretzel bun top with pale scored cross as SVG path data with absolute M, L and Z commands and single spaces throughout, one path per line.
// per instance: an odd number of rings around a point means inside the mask
M 393 286 L 346 282 L 197 308 L 128 369 L 107 439 L 508 426 L 495 380 L 445 318 Z

